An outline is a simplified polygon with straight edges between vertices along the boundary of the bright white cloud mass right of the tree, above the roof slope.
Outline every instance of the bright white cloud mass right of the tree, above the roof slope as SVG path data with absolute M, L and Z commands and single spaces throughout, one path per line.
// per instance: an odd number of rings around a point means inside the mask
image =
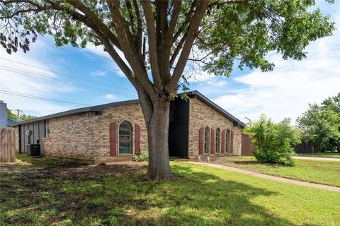
M 248 88 L 233 89 L 232 94 L 215 98 L 217 105 L 244 119 L 258 119 L 261 113 L 276 121 L 285 117 L 295 120 L 308 108 L 308 103 L 322 102 L 340 92 L 340 10 L 336 31 L 331 37 L 312 42 L 307 59 L 284 61 L 278 54 L 269 59 L 273 71 L 255 70 L 234 81 Z

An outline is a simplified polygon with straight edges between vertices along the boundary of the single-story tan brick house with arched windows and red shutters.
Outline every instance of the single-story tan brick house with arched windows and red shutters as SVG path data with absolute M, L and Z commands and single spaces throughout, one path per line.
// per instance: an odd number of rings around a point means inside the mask
M 171 101 L 169 155 L 240 155 L 244 124 L 198 91 Z M 40 143 L 42 154 L 90 162 L 130 159 L 147 151 L 147 129 L 138 100 L 51 114 L 12 125 L 21 153 Z

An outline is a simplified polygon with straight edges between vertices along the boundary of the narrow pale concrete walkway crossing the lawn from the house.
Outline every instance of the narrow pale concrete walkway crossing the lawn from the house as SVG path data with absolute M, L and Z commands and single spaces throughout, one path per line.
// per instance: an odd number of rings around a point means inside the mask
M 246 170 L 246 169 L 239 169 L 239 168 L 235 168 L 235 167 L 227 167 L 225 165 L 217 165 L 217 164 L 210 163 L 210 162 L 189 162 L 189 163 L 196 164 L 196 165 L 207 165 L 209 167 L 214 167 L 214 168 L 218 168 L 218 169 L 227 169 L 227 170 L 232 171 L 232 172 L 240 172 L 242 174 L 248 174 L 248 175 L 251 175 L 251 176 L 254 176 L 254 177 L 271 179 L 271 180 L 276 181 L 276 182 L 285 182 L 285 183 L 290 183 L 290 184 L 309 186 L 309 187 L 316 188 L 316 189 L 324 189 L 324 190 L 328 190 L 328 191 L 340 192 L 340 187 L 336 187 L 336 186 L 328 186 L 328 185 L 324 185 L 324 184 L 315 184 L 315 183 L 310 183 L 310 182 L 301 182 L 301 181 L 297 181 L 295 179 L 275 177 L 275 176 L 261 174 L 259 172 L 254 172 L 254 171 L 250 171 L 250 170 Z

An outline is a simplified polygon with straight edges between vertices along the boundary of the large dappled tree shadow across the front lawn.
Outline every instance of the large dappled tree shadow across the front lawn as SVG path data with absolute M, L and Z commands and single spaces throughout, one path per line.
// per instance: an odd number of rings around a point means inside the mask
M 179 165 L 173 180 L 151 182 L 145 170 L 32 165 L 0 178 L 0 225 L 294 225 L 251 203 L 275 195 L 266 189 Z

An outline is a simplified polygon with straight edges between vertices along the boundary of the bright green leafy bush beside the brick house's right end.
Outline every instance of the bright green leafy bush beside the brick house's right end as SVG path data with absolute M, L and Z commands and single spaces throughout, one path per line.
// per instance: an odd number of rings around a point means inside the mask
M 276 123 L 261 114 L 259 121 L 251 122 L 244 133 L 255 145 L 253 155 L 257 161 L 294 164 L 292 145 L 300 143 L 300 131 L 290 125 L 290 119 Z

